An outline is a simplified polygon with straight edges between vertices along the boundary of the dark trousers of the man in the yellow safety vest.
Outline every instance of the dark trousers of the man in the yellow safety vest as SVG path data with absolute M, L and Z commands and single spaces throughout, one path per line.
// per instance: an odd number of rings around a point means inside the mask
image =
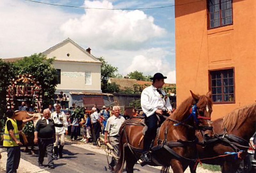
M 20 164 L 20 146 L 7 147 L 6 173 L 15 173 Z

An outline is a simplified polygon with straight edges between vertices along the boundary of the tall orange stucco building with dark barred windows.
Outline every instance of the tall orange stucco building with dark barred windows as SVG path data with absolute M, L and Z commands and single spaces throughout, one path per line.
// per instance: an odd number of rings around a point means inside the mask
M 256 102 L 256 0 L 175 0 L 177 105 L 212 91 L 212 119 Z

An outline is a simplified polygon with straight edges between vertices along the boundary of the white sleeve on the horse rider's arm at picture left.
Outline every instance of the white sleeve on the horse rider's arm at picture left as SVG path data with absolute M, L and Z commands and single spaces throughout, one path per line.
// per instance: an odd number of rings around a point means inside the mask
M 149 117 L 154 114 L 157 108 L 154 108 L 149 103 L 149 93 L 145 89 L 141 93 L 140 104 L 143 112 Z

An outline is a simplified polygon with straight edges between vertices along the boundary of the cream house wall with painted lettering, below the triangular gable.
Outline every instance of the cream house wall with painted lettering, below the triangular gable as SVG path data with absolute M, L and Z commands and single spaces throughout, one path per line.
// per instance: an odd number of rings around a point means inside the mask
M 61 69 L 61 82 L 57 90 L 90 90 L 101 92 L 100 63 L 54 61 L 54 68 Z M 85 72 L 91 72 L 91 85 L 85 85 Z

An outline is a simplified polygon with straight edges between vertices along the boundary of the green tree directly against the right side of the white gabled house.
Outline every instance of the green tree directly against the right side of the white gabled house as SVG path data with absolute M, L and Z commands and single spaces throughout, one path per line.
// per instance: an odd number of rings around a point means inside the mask
M 108 87 L 108 79 L 115 77 L 115 72 L 117 71 L 118 68 L 108 64 L 108 62 L 105 61 L 105 59 L 102 56 L 99 58 L 99 60 L 102 63 L 100 67 L 101 90 L 103 93 L 106 93 L 107 87 Z

